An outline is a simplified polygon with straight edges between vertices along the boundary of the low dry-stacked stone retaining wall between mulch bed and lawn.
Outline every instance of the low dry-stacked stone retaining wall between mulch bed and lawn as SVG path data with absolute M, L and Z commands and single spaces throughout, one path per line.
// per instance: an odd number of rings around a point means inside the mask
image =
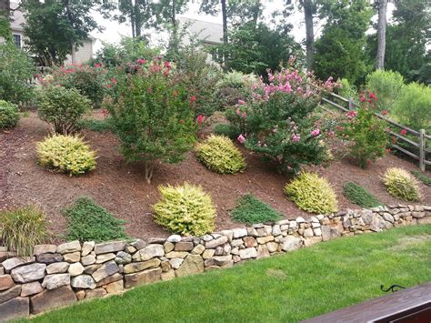
M 391 206 L 284 219 L 204 237 L 79 241 L 35 246 L 33 257 L 0 247 L 0 321 L 100 298 L 159 280 L 232 267 L 335 237 L 431 224 L 431 207 Z

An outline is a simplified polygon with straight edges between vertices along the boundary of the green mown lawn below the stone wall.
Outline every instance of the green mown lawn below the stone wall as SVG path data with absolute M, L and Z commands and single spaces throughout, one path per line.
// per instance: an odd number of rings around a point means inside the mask
M 332 240 L 63 308 L 40 322 L 293 322 L 431 280 L 431 226 Z

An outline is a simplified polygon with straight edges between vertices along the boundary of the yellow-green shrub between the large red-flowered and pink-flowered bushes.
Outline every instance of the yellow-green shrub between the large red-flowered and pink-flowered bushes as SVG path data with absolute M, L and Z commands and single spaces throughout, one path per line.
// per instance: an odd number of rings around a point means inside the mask
M 196 156 L 205 167 L 220 174 L 236 174 L 246 168 L 241 152 L 226 136 L 208 136 L 197 144 Z

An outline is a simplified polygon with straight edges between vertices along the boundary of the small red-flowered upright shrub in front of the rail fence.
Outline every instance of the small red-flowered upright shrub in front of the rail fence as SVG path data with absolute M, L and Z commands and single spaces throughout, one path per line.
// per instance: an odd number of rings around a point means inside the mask
M 385 156 L 388 136 L 386 122 L 377 118 L 375 113 L 376 96 L 361 96 L 363 106 L 347 114 L 347 122 L 340 133 L 351 143 L 349 156 L 353 157 L 360 167 Z

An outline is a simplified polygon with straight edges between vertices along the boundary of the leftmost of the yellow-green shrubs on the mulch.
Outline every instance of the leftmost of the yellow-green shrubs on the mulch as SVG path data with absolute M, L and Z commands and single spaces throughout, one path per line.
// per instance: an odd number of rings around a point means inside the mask
M 95 169 L 95 152 L 79 136 L 55 135 L 36 144 L 40 165 L 70 176 Z

